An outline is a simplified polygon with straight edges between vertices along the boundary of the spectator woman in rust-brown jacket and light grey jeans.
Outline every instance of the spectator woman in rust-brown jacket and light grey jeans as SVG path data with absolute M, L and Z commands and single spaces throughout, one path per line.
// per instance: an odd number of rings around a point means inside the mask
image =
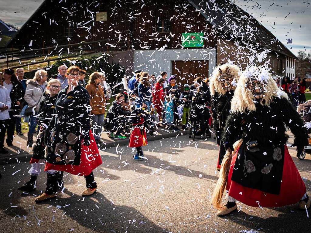
M 106 98 L 104 90 L 100 85 L 102 75 L 99 72 L 93 72 L 90 75 L 86 90 L 90 94 L 92 131 L 96 144 L 101 143 L 100 135 L 103 130 Z

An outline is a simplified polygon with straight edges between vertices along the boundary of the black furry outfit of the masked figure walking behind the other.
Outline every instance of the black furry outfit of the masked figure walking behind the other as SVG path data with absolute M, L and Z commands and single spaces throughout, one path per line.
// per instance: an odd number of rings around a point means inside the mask
M 230 114 L 231 100 L 234 91 L 226 92 L 226 94 L 219 94 L 215 92 L 211 99 L 212 117 L 213 117 L 213 128 L 216 136 L 217 144 L 219 145 L 219 154 L 217 161 L 217 169 L 220 169 L 220 165 L 224 155 L 226 153 L 225 145 L 221 140 L 227 117 Z

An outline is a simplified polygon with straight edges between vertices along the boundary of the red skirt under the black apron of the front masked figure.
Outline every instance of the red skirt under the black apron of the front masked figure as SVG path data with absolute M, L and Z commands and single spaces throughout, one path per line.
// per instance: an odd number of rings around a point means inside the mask
M 238 154 L 235 153 L 231 160 L 231 167 L 228 175 L 227 191 L 229 191 L 229 196 L 253 207 L 280 207 L 298 203 L 306 193 L 306 186 L 301 179 L 294 161 L 290 157 L 287 146 L 284 146 L 284 166 L 279 195 L 247 188 L 232 181 L 231 176 Z M 239 149 L 237 151 L 239 151 Z

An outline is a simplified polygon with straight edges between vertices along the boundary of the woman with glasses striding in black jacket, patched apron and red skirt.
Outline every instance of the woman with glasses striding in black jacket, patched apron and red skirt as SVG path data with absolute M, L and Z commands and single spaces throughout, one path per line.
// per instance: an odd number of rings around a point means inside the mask
M 70 66 L 66 73 L 68 87 L 58 93 L 55 101 L 53 126 L 45 148 L 45 168 L 48 174 L 45 192 L 35 202 L 55 198 L 57 171 L 84 176 L 86 190 L 82 196 L 90 196 L 97 190 L 93 170 L 102 160 L 91 132 L 90 95 L 79 85 L 80 69 Z

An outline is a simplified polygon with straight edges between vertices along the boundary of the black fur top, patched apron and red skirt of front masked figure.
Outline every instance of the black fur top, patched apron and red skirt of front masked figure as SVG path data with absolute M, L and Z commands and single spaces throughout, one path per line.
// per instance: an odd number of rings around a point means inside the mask
M 278 207 L 297 203 L 306 193 L 300 174 L 285 145 L 285 125 L 295 135 L 297 148 L 308 144 L 304 123 L 291 103 L 274 97 L 256 111 L 231 113 L 223 141 L 231 146 L 242 138 L 231 160 L 229 196 L 253 207 Z

